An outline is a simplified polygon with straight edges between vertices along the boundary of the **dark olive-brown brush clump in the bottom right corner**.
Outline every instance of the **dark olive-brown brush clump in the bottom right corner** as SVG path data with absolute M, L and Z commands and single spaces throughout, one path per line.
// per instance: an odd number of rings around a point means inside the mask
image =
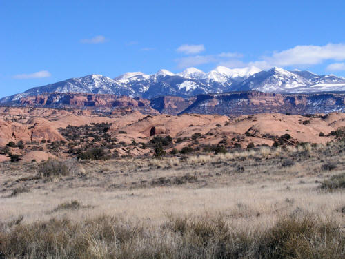
M 341 258 L 344 250 L 332 249 L 345 248 L 345 242 L 337 240 L 342 236 L 337 225 L 319 222 L 313 215 L 282 218 L 259 237 L 257 258 Z

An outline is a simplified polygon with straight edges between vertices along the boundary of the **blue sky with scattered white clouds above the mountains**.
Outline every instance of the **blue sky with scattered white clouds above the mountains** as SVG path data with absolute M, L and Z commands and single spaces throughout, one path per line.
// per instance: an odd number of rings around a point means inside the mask
M 345 1 L 2 1 L 0 97 L 187 66 L 345 76 Z

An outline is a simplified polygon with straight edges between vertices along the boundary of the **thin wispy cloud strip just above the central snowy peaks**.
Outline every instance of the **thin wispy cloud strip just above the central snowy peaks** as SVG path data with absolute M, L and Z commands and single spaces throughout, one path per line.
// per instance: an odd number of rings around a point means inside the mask
M 175 61 L 177 61 L 178 68 L 188 68 L 190 66 L 199 66 L 202 64 L 226 62 L 229 61 L 229 59 L 238 61 L 237 59 L 240 57 L 242 57 L 242 54 L 240 53 L 222 52 L 217 55 L 197 55 L 191 57 L 182 57 L 179 59 L 175 59 Z

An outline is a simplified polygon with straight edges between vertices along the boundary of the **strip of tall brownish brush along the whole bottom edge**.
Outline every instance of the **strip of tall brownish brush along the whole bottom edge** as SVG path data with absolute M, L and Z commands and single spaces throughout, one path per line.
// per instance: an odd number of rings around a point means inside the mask
M 3 258 L 333 258 L 345 256 L 345 234 L 312 215 L 280 218 L 244 231 L 226 217 L 168 215 L 155 226 L 101 216 L 1 225 Z

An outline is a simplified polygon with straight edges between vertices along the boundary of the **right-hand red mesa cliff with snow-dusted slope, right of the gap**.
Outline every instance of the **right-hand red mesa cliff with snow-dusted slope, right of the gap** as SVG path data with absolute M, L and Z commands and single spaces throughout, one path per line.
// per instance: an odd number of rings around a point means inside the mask
M 345 111 L 344 93 L 277 94 L 238 92 L 198 95 L 181 113 L 249 115 L 256 113 L 330 113 Z

